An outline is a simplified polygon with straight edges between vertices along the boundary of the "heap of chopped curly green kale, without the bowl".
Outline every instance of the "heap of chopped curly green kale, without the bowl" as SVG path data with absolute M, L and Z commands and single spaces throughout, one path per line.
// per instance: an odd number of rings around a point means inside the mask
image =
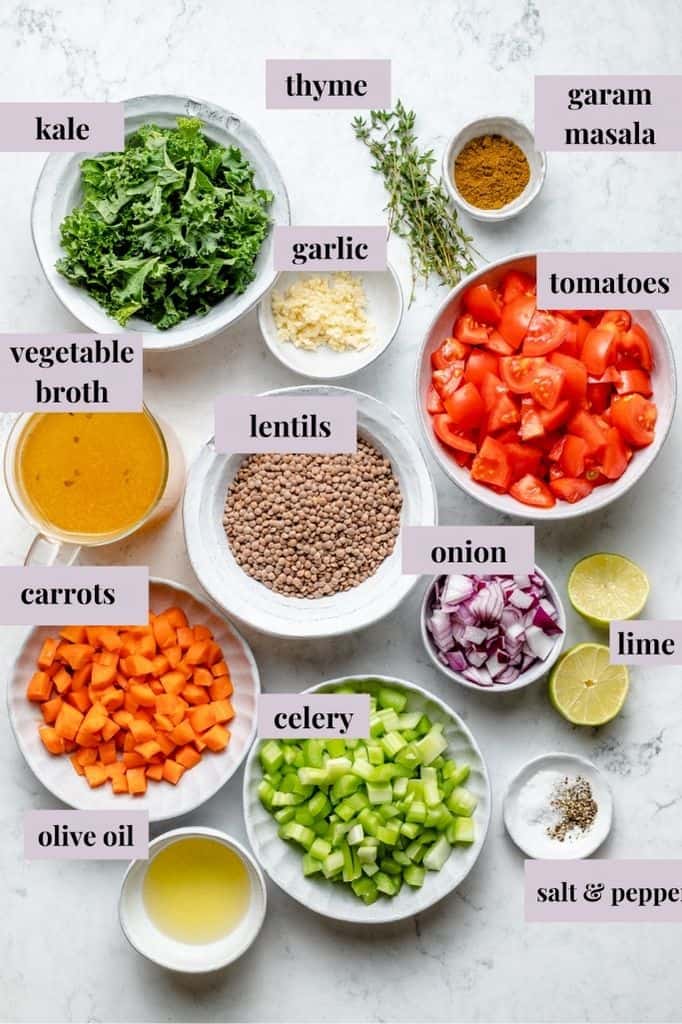
M 196 118 L 142 125 L 122 153 L 84 160 L 81 182 L 56 268 L 122 326 L 137 315 L 165 331 L 254 280 L 272 194 Z

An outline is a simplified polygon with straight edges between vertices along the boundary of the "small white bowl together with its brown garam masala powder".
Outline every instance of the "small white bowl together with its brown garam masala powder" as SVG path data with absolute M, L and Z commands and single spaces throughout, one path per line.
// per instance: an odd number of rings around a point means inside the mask
M 515 118 L 479 118 L 447 143 L 442 180 L 453 201 L 475 220 L 515 217 L 532 202 L 547 173 L 529 128 Z

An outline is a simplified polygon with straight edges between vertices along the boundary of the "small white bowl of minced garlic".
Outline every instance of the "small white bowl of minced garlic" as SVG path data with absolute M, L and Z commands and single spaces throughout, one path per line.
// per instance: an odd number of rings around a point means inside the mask
M 286 367 L 314 380 L 339 380 L 373 362 L 402 317 L 402 293 L 385 270 L 280 274 L 258 307 L 265 344 Z

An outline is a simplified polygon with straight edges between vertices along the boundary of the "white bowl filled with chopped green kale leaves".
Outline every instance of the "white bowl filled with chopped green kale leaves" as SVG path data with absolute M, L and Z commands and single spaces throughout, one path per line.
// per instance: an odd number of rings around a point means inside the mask
M 271 288 L 287 189 L 256 132 L 220 106 L 138 96 L 124 112 L 121 152 L 48 157 L 33 203 L 36 252 L 57 298 L 91 331 L 186 348 Z

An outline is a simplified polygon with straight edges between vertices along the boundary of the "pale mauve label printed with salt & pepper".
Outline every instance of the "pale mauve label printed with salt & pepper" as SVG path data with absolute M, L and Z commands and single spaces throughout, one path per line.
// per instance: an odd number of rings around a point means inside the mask
M 526 860 L 527 922 L 682 921 L 682 860 Z

